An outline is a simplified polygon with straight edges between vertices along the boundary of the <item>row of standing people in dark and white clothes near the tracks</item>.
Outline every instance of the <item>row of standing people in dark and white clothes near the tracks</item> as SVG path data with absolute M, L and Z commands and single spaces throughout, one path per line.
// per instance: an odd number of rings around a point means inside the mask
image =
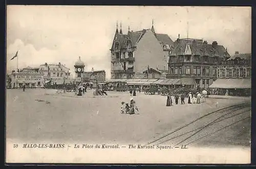
M 185 104 L 185 95 L 184 94 L 181 94 L 180 96 L 178 94 L 176 94 L 174 96 L 175 98 L 175 103 L 178 104 L 179 102 L 179 98 L 181 99 L 181 104 Z M 202 95 L 200 94 L 200 92 L 197 92 L 196 95 L 194 95 L 192 92 L 189 92 L 188 93 L 188 101 L 187 103 L 188 104 L 200 104 L 201 103 L 201 98 L 202 98 Z M 172 100 L 172 96 L 171 95 L 168 95 L 167 96 L 167 101 L 166 101 L 166 106 L 173 106 L 173 100 Z

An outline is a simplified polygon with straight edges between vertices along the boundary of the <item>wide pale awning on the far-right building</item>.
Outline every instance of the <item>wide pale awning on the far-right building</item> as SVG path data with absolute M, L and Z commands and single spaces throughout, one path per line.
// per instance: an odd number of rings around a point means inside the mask
M 215 89 L 249 89 L 251 88 L 251 79 L 217 79 L 209 88 Z

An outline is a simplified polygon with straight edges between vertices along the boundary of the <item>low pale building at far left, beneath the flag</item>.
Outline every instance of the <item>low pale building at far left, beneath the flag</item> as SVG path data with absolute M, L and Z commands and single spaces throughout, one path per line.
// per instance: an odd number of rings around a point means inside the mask
M 12 71 L 11 88 L 37 88 L 44 86 L 44 75 L 38 72 L 38 68 L 26 67 L 22 70 Z

